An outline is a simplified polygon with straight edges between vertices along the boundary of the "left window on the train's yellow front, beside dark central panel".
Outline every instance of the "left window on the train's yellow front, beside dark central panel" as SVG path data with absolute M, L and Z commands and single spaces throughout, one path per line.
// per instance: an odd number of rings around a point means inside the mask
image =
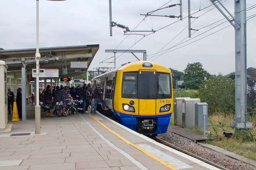
M 137 98 L 137 72 L 123 73 L 122 97 Z

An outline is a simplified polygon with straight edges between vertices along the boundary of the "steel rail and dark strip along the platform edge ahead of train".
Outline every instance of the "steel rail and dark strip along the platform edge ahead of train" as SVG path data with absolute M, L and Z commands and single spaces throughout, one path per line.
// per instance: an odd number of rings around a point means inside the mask
M 164 144 L 165 146 L 168 146 L 168 147 L 173 148 L 173 149 L 175 149 L 175 150 L 177 150 L 177 151 L 180 151 L 180 152 L 182 152 L 182 153 L 184 153 L 184 154 L 186 154 L 186 155 L 189 155 L 189 156 L 192 156 L 192 157 L 194 157 L 194 158 L 196 158 L 196 159 L 199 159 L 199 160 L 201 160 L 201 161 L 203 161 L 203 162 L 205 162 L 205 163 L 207 163 L 207 164 L 209 164 L 209 165 L 212 165 L 212 166 L 214 166 L 214 167 L 216 167 L 216 168 L 219 168 L 219 169 L 222 169 L 222 170 L 228 170 L 227 168 L 224 168 L 224 167 L 222 167 L 222 166 L 220 166 L 220 165 L 217 165 L 217 164 L 215 164 L 215 163 L 213 163 L 213 162 L 211 162 L 211 161 L 208 161 L 208 160 L 206 160 L 206 159 L 204 159 L 204 158 L 201 158 L 201 157 L 199 157 L 199 156 L 197 156 L 197 155 L 194 155 L 194 154 L 192 154 L 192 153 L 190 153 L 190 152 L 188 152 L 188 151 L 185 151 L 185 150 L 183 150 L 183 149 L 181 149 L 181 148 L 179 148 L 179 147 L 176 147 L 176 146 L 174 146 L 173 144 L 170 144 L 170 143 L 168 143 L 168 142 L 166 142 L 166 141 L 164 141 L 164 140 L 162 140 L 162 139 L 159 139 L 159 138 L 154 137 L 154 136 L 149 136 L 149 135 L 148 135 L 148 137 L 151 138 L 151 139 L 153 139 L 153 140 L 155 140 L 155 141 L 157 141 L 157 142 L 159 142 L 159 143 L 161 143 L 161 144 Z

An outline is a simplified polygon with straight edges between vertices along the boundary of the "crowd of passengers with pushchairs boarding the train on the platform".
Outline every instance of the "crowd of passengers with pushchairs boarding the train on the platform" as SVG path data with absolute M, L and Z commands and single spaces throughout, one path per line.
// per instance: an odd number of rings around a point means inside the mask
M 96 90 L 97 88 L 95 88 Z M 83 87 L 77 86 L 75 87 L 69 87 L 69 86 L 54 86 L 53 89 L 51 89 L 50 85 L 47 85 L 46 89 L 42 91 L 41 94 L 39 94 L 40 102 L 43 102 L 44 104 L 44 110 L 46 111 L 46 116 L 48 117 L 55 117 L 57 116 L 66 116 L 65 110 L 68 104 L 72 104 L 72 101 L 74 100 L 80 100 L 82 104 L 80 105 L 80 108 L 83 108 L 85 110 L 85 113 L 89 113 L 88 107 L 91 105 L 91 103 L 94 103 L 93 97 L 95 100 L 98 100 L 96 98 L 101 97 L 101 92 L 98 94 L 98 91 L 95 91 L 96 94 L 93 96 L 93 90 L 91 88 L 91 83 L 88 83 L 88 86 L 86 84 L 83 85 Z M 100 100 L 100 99 L 99 99 Z M 102 99 L 101 99 L 102 100 Z M 98 102 L 97 102 L 98 103 Z M 103 102 L 104 104 L 104 102 Z M 55 106 L 54 112 L 52 112 L 52 109 Z M 59 109 L 56 109 L 56 107 L 59 107 Z M 91 106 L 91 112 L 93 111 L 93 105 Z M 97 107 L 97 105 L 96 105 Z M 105 109 L 105 105 L 103 107 Z M 94 109 L 94 113 L 96 111 L 96 108 Z M 57 112 L 57 114 L 55 113 Z

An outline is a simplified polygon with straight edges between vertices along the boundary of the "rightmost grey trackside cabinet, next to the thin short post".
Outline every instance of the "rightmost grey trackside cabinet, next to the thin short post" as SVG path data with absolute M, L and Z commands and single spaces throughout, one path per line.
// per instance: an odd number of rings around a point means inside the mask
M 208 104 L 207 103 L 196 103 L 195 104 L 195 126 L 204 128 L 204 115 L 205 115 L 205 129 L 208 126 Z

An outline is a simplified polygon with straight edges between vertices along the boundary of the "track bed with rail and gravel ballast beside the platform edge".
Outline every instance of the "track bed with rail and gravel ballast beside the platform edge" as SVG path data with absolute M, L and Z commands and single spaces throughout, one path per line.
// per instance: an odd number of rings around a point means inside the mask
M 102 114 L 101 110 L 101 114 Z M 103 114 L 113 121 L 116 121 L 116 117 L 112 117 L 110 114 Z M 110 115 L 110 116 L 109 116 Z M 167 131 L 165 134 L 159 134 L 157 137 L 152 137 L 151 135 L 146 135 L 147 137 L 162 143 L 170 148 L 176 149 L 178 151 L 181 151 L 187 155 L 190 155 L 194 158 L 197 158 L 209 165 L 212 165 L 216 168 L 223 169 L 223 170 L 256 170 L 256 167 L 250 164 L 247 164 L 243 161 L 239 161 L 236 159 L 233 159 L 227 155 L 224 155 L 222 153 L 219 153 L 217 151 L 210 150 L 208 148 L 204 148 L 201 145 L 195 144 L 191 140 L 188 140 L 187 138 L 184 138 L 180 135 L 173 134 L 170 131 Z M 162 138 L 162 139 L 160 139 Z M 173 144 L 171 144 L 173 143 Z M 176 147 L 176 146 L 178 147 Z M 183 149 L 182 149 L 183 148 Z M 186 151 L 186 150 L 188 151 Z M 192 152 L 192 153 L 191 153 Z M 196 154 L 196 155 L 195 155 Z M 199 156 L 197 156 L 199 155 Z M 202 158 L 203 157 L 203 158 Z M 211 160 L 211 161 L 208 161 Z M 215 163 L 214 163 L 215 162 Z M 219 164 L 219 165 L 218 165 Z

